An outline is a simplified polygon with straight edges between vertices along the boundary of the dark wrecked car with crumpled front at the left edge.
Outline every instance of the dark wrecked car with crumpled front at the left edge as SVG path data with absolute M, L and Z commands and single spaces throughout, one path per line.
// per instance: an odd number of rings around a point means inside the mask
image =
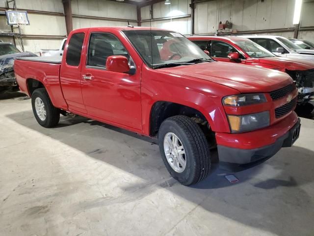
M 37 57 L 31 52 L 21 53 L 11 43 L 0 42 L 0 92 L 4 90 L 18 90 L 13 63 L 16 58 Z

